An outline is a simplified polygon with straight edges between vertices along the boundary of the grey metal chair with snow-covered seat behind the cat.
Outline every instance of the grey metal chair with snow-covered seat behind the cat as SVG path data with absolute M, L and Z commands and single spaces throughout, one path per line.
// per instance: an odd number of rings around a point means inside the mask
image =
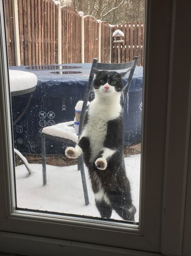
M 129 72 L 129 76 L 127 79 L 127 83 L 123 88 L 123 99 L 122 99 L 122 106 L 124 107 L 128 89 L 132 80 L 132 76 L 134 73 L 135 66 L 137 65 L 138 57 L 134 57 L 134 60 L 127 63 L 98 63 L 97 59 L 93 60 L 88 85 L 86 88 L 85 96 L 84 96 L 84 102 L 81 109 L 81 115 L 80 115 L 80 123 L 79 123 L 79 132 L 78 132 L 78 138 L 81 135 L 83 131 L 83 125 L 84 125 L 84 119 L 86 115 L 86 109 L 87 104 L 90 96 L 90 92 L 93 88 L 93 78 L 94 78 L 94 72 L 95 68 L 98 70 L 116 70 L 120 73 L 127 73 Z M 52 129 L 58 129 L 59 135 L 53 136 L 52 135 Z M 70 138 L 68 137 L 68 133 L 71 134 Z M 70 143 L 77 143 L 77 135 L 75 135 L 75 130 L 73 127 L 73 121 L 71 122 L 65 122 L 61 124 L 56 124 L 52 126 L 44 127 L 41 134 L 42 139 L 42 173 L 43 173 L 43 185 L 46 185 L 46 148 L 45 148 L 45 139 L 54 139 L 61 142 L 70 142 Z M 123 165 L 124 165 L 124 159 L 123 159 Z M 85 176 L 85 170 L 84 170 L 84 160 L 83 155 L 78 157 L 77 159 L 77 166 L 78 170 L 81 172 L 81 180 L 83 183 L 83 190 L 84 190 L 84 197 L 85 197 L 85 204 L 89 204 L 89 197 L 88 197 L 88 190 L 87 190 L 87 184 L 86 184 L 86 176 Z M 125 166 L 124 166 L 125 167 Z

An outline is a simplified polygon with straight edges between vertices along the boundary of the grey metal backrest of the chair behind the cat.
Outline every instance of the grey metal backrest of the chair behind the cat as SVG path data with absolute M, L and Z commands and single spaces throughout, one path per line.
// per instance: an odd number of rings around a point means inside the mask
M 129 72 L 127 83 L 123 88 L 122 106 L 124 107 L 125 101 L 126 101 L 126 98 L 127 98 L 127 93 L 128 93 L 128 90 L 129 90 L 129 86 L 130 86 L 132 76 L 133 76 L 133 73 L 134 73 L 134 69 L 135 69 L 135 66 L 137 65 L 137 61 L 138 61 L 138 57 L 134 57 L 133 61 L 126 62 L 126 63 L 98 63 L 97 59 L 93 60 L 92 68 L 91 68 L 90 76 L 89 76 L 89 81 L 88 81 L 88 85 L 87 85 L 85 96 L 84 96 L 84 103 L 83 103 L 83 107 L 81 109 L 81 116 L 80 116 L 80 123 L 79 123 L 79 133 L 78 133 L 79 136 L 80 136 L 81 132 L 83 131 L 87 103 L 88 103 L 88 99 L 89 99 L 89 96 L 90 96 L 90 92 L 91 92 L 92 87 L 93 87 L 93 78 L 94 78 L 95 68 L 98 69 L 98 70 L 108 70 L 108 71 L 109 70 L 115 70 L 119 73 L 128 73 Z

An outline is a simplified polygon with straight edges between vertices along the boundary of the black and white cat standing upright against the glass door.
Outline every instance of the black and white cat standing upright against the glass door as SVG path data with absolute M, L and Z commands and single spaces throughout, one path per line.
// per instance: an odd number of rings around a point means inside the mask
M 66 149 L 68 158 L 84 153 L 95 203 L 102 218 L 115 210 L 124 220 L 134 221 L 130 184 L 122 166 L 123 121 L 120 104 L 121 74 L 96 70 L 95 98 L 86 113 L 78 144 Z

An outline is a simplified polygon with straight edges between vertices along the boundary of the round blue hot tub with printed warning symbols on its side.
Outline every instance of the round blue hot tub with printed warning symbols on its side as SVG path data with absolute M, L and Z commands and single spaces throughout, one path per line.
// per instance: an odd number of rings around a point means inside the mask
M 10 69 L 25 70 L 37 75 L 37 89 L 29 108 L 14 125 L 14 146 L 20 152 L 41 153 L 43 127 L 72 120 L 74 107 L 83 100 L 91 64 L 63 64 L 44 66 L 15 66 Z M 127 79 L 127 78 L 126 78 Z M 143 68 L 136 67 L 124 108 L 124 144 L 141 141 Z M 90 100 L 93 99 L 93 92 Z M 28 95 L 12 97 L 13 120 L 19 115 Z M 50 155 L 63 153 L 68 146 L 58 141 L 46 140 L 46 152 Z

